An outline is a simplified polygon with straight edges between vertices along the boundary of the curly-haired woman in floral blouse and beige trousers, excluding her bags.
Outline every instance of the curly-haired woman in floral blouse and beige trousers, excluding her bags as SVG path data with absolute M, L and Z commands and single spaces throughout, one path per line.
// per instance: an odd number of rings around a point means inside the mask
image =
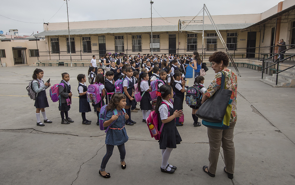
M 234 127 L 237 121 L 237 75 L 232 70 L 227 68 L 229 59 L 227 54 L 222 51 L 215 52 L 209 57 L 209 62 L 212 63 L 211 68 L 217 73 L 209 85 L 207 91 L 205 91 L 202 99 L 204 103 L 208 98 L 214 95 L 214 93 L 220 89 L 221 84 L 221 72 L 225 73 L 226 89 L 232 90 L 232 112 L 230 114 L 230 128 L 227 130 L 207 128 L 209 138 L 209 167 L 203 166 L 203 170 L 211 177 L 215 177 L 215 171 L 220 151 L 220 146 L 223 149 L 224 155 L 224 172 L 227 173 L 227 177 L 233 179 L 233 173 L 235 170 L 235 147 L 234 147 Z

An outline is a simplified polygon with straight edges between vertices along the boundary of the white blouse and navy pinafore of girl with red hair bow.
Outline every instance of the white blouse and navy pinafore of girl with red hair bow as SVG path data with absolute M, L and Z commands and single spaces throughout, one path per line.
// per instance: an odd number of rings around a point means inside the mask
M 166 104 L 164 104 L 165 102 Z M 162 126 L 162 119 L 167 119 L 168 118 L 168 112 L 170 113 L 169 116 L 172 116 L 174 113 L 174 108 L 173 104 L 171 104 L 170 101 L 163 100 L 159 107 L 159 125 L 158 125 L 158 130 L 160 130 Z M 175 103 L 174 103 L 175 105 Z M 160 140 L 159 145 L 160 149 L 166 149 L 166 148 L 176 148 L 177 144 L 180 144 L 182 141 L 180 134 L 176 128 L 175 125 L 175 119 L 172 119 L 170 122 L 165 123 L 160 135 Z

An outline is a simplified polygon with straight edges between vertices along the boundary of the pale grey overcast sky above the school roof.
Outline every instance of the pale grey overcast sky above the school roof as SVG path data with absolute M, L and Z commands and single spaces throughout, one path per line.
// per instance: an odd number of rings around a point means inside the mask
M 178 17 L 195 16 L 202 9 L 204 3 L 211 15 L 256 14 L 265 12 L 282 0 L 268 0 L 267 3 L 262 0 L 153 1 L 153 7 L 162 17 Z M 0 30 L 4 34 L 9 29 L 17 29 L 20 36 L 31 35 L 33 32 L 36 34 L 37 31 L 39 33 L 43 31 L 43 22 L 67 22 L 67 6 L 63 0 L 0 1 L 0 7 Z M 60 10 L 58 11 L 58 9 Z M 68 10 L 70 22 L 148 18 L 150 17 L 150 0 L 70 0 L 68 1 Z M 53 15 L 54 17 L 52 17 Z M 153 17 L 160 17 L 154 9 Z

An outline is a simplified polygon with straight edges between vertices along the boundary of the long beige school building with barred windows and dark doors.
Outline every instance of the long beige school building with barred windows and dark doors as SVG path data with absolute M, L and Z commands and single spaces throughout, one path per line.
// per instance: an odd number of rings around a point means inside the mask
M 210 9 L 209 9 L 210 11 Z M 153 54 L 202 53 L 201 23 L 182 24 L 189 17 L 153 18 Z M 234 61 L 249 61 L 269 57 L 278 47 L 270 47 L 280 39 L 286 45 L 295 44 L 295 2 L 285 0 L 263 13 L 212 16 Z M 194 20 L 202 20 L 197 16 Z M 182 23 L 182 22 L 181 22 Z M 205 14 L 204 36 L 214 37 L 217 33 Z M 89 63 L 92 55 L 126 53 L 128 55 L 151 53 L 150 18 L 115 19 L 44 24 L 44 32 L 32 39 L 0 39 L 1 64 L 6 66 L 31 65 L 33 63 L 69 63 L 70 45 L 72 61 Z M 288 46 L 291 47 L 291 46 Z M 205 38 L 203 58 L 207 60 L 215 51 L 225 51 L 217 38 Z M 294 49 L 286 52 L 294 53 Z M 98 58 L 98 57 L 97 57 Z

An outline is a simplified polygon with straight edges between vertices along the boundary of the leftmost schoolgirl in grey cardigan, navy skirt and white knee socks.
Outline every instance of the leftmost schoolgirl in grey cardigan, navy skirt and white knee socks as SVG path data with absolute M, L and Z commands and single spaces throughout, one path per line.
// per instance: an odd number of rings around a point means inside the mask
M 44 119 L 44 123 L 52 123 L 48 120 L 45 113 L 45 107 L 49 107 L 45 89 L 50 87 L 50 83 L 44 83 L 42 80 L 44 72 L 42 69 L 35 69 L 33 73 L 32 87 L 36 93 L 35 107 L 36 107 L 36 117 L 37 117 L 37 126 L 45 126 L 40 120 L 40 110 Z

